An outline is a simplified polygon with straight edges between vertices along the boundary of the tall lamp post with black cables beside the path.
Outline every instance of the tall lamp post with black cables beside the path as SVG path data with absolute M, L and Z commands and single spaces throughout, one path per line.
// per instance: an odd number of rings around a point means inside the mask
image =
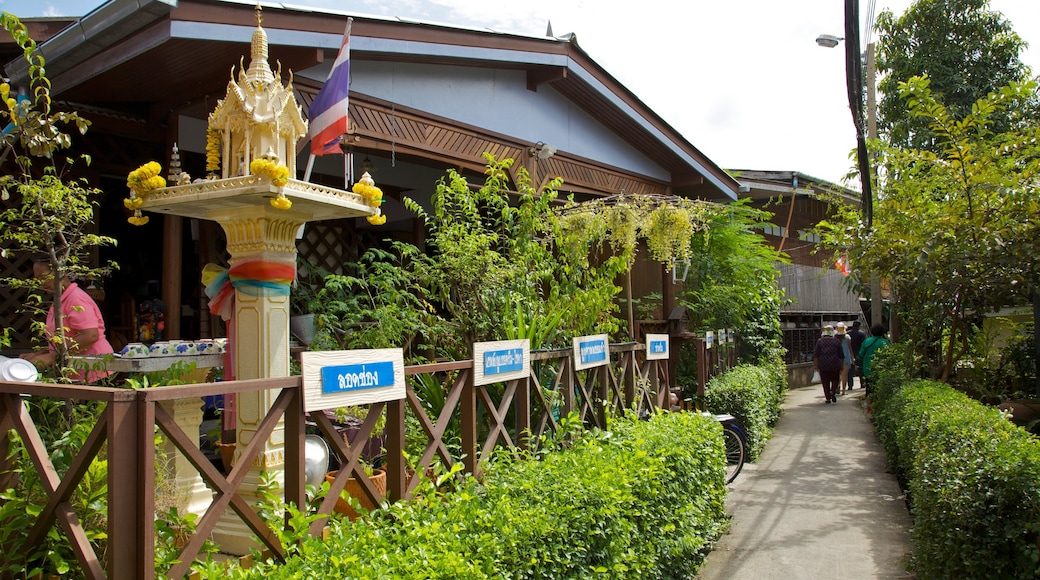
M 849 108 L 852 110 L 853 124 L 856 126 L 856 162 L 862 190 L 860 206 L 863 212 L 863 221 L 869 232 L 874 227 L 874 193 L 870 184 L 870 159 L 866 150 L 866 139 L 874 139 L 878 136 L 877 105 L 874 96 L 874 43 L 866 46 L 866 107 L 864 111 L 863 62 L 859 53 L 859 0 L 846 0 L 844 5 L 844 37 L 821 34 L 816 37 L 816 44 L 824 48 L 834 48 L 841 41 L 846 42 L 846 86 L 849 93 Z M 881 324 L 883 319 L 881 281 L 872 273 L 870 324 Z

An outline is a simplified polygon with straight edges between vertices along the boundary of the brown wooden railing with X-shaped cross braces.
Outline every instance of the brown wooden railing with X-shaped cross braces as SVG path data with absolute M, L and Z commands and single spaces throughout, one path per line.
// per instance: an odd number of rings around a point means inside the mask
M 606 427 L 607 417 L 633 405 L 662 406 L 668 397 L 667 362 L 645 361 L 643 345 L 621 344 L 610 347 L 607 365 L 575 371 L 570 349 L 531 353 L 531 373 L 524 379 L 476 387 L 472 361 L 436 363 L 406 367 L 406 398 L 375 403 L 369 408 L 361 433 L 349 445 L 321 413 L 310 419 L 330 443 L 339 458 L 341 472 L 364 477 L 362 452 L 381 416 L 385 417 L 385 457 L 387 498 L 374 486 L 364 485 L 374 503 L 410 497 L 418 478 L 408 477 L 410 470 L 422 473 L 440 462 L 446 467 L 463 462 L 467 471 L 479 473 L 480 462 L 496 446 L 527 447 L 532 440 L 551 434 L 558 419 L 572 412 L 588 425 Z M 249 445 L 240 449 L 231 471 L 220 473 L 200 449 L 198 433 L 185 433 L 160 404 L 177 399 L 277 390 L 275 402 L 261 421 Z M 420 394 L 435 392 L 438 401 L 424 400 Z M 22 394 L 72 400 L 100 401 L 101 418 L 89 433 L 70 468 L 59 474 L 49 459 L 48 450 L 24 404 Z M 428 398 L 428 397 L 427 397 Z M 436 403 L 436 404 L 432 404 Z M 168 386 L 139 391 L 98 387 L 48 384 L 0 383 L 0 489 L 15 483 L 9 473 L 12 460 L 6 459 L 14 430 L 26 446 L 33 466 L 41 474 L 47 504 L 36 519 L 29 545 L 36 545 L 57 524 L 70 539 L 76 559 L 87 578 L 155 577 L 156 455 L 155 426 L 199 471 L 213 491 L 213 500 L 197 521 L 193 535 L 186 538 L 178 563 L 166 572 L 171 578 L 187 574 L 227 508 L 234 510 L 256 535 L 263 548 L 277 558 L 284 547 L 278 534 L 265 523 L 241 495 L 249 467 L 262 451 L 263 442 L 279 422 L 285 432 L 284 501 L 305 505 L 304 482 L 305 425 L 302 380 L 298 376 L 235 380 L 215 384 Z M 406 417 L 414 417 L 426 444 L 406 465 Z M 435 415 L 435 416 L 432 416 Z M 446 434 L 451 431 L 451 439 Z M 92 462 L 107 444 L 108 513 L 107 565 L 94 552 L 83 524 L 73 511 L 70 498 Z M 330 515 L 347 476 L 336 478 L 318 512 Z M 2 525 L 2 523 L 0 523 Z M 320 533 L 324 520 L 314 523 L 311 533 Z M 0 547 L 2 549 L 3 547 Z

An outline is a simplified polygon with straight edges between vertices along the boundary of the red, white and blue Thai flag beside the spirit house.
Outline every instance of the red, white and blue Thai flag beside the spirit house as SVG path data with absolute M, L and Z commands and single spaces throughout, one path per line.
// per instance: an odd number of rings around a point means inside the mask
M 346 19 L 343 46 L 339 49 L 332 71 L 329 72 L 329 78 L 311 103 L 309 131 L 311 155 L 339 153 L 339 138 L 347 130 L 346 97 L 350 85 L 350 23 L 353 22 L 353 18 Z

